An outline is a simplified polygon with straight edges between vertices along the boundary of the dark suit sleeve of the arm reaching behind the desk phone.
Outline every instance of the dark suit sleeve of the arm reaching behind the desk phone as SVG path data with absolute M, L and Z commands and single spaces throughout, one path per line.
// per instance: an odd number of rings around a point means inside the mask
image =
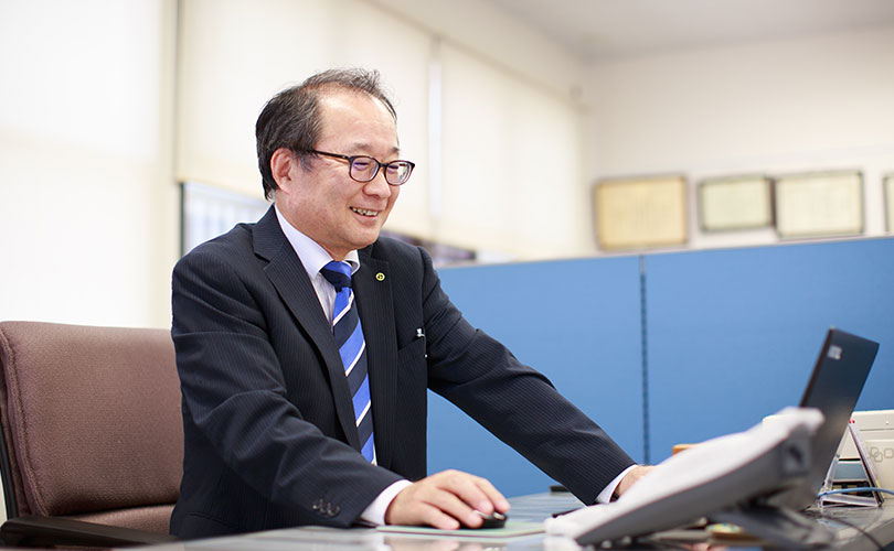
M 583 503 L 634 461 L 550 380 L 472 327 L 441 290 L 425 252 L 429 388 L 455 403 Z

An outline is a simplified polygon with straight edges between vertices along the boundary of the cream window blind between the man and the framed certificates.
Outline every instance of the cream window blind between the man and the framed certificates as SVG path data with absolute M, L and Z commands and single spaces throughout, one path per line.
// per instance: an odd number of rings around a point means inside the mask
M 435 237 L 515 259 L 593 251 L 578 106 L 441 51 L 441 214 Z

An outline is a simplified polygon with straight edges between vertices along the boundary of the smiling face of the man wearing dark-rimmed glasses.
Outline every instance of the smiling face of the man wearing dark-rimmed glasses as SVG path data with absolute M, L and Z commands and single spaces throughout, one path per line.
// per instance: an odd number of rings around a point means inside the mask
M 394 118 L 377 99 L 332 90 L 320 98 L 319 108 L 322 129 L 315 149 L 383 163 L 398 159 Z M 276 203 L 286 219 L 336 260 L 375 241 L 400 193 L 385 182 L 384 169 L 360 183 L 342 159 L 311 155 L 309 168 L 292 155 L 287 176 L 277 176 Z

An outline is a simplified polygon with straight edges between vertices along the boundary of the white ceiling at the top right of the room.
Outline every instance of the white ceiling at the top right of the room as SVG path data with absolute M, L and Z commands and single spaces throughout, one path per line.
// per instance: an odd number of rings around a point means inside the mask
M 894 24 L 894 0 L 487 0 L 584 62 Z

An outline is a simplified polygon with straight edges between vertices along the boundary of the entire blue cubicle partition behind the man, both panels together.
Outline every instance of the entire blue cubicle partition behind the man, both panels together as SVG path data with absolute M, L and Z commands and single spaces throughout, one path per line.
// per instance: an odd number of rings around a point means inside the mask
M 891 238 L 476 266 L 440 276 L 473 325 L 546 374 L 637 461 L 658 463 L 673 444 L 741 431 L 796 406 L 830 326 L 881 344 L 858 409 L 894 408 Z M 550 484 L 429 396 L 429 472 L 469 471 L 508 496 Z

